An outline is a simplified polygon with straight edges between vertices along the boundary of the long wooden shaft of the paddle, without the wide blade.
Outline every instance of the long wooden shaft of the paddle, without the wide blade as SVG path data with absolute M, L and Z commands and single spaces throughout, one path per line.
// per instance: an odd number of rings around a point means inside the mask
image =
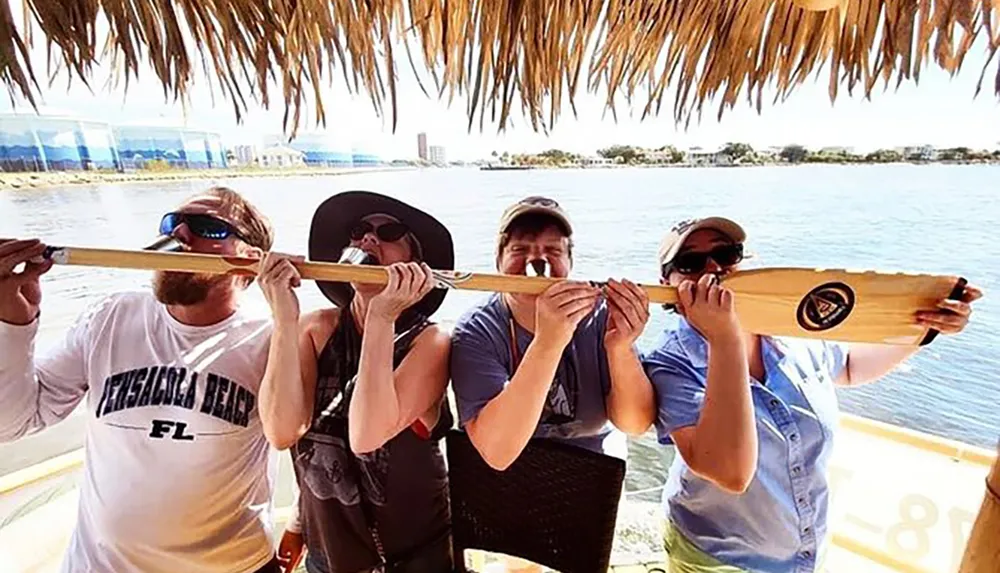
M 195 272 L 209 274 L 242 274 L 256 276 L 257 259 L 159 251 L 129 251 L 82 247 L 50 247 L 46 256 L 57 264 L 119 269 Z M 382 266 L 349 265 L 328 262 L 294 263 L 304 279 L 331 282 L 386 284 L 389 275 Z M 540 294 L 560 279 L 499 275 L 459 271 L 433 270 L 437 288 Z M 601 284 L 592 282 L 592 284 Z M 639 285 L 652 303 L 674 304 L 677 289 L 662 285 Z

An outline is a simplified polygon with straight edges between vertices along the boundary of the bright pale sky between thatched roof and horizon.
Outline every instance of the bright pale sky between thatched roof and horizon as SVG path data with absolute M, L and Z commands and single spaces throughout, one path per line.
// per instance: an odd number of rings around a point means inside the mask
M 36 47 L 35 52 L 40 69 L 44 70 L 44 51 Z M 456 96 L 449 107 L 446 97 L 438 100 L 434 95 L 425 96 L 404 59 L 398 72 L 400 103 L 395 134 L 388 118 L 375 114 L 367 95 L 352 97 L 347 92 L 339 70 L 334 74 L 334 82 L 324 88 L 326 130 L 336 133 L 345 143 L 372 149 L 388 159 L 415 157 L 416 134 L 421 131 L 427 132 L 432 145 L 445 146 L 449 159 L 465 160 L 487 157 L 494 150 L 517 153 L 560 148 L 589 154 L 616 143 L 707 148 L 728 141 L 744 141 L 755 147 L 799 143 L 807 147 L 852 146 L 858 151 L 920 144 L 994 149 L 1000 146 L 1000 103 L 992 93 L 996 61 L 990 65 L 983 91 L 973 97 L 984 62 L 984 42 L 980 41 L 954 78 L 931 65 L 923 70 L 919 86 L 910 81 L 896 90 L 895 82 L 891 82 L 889 89 L 883 90 L 880 84 L 871 101 L 857 92 L 849 96 L 846 88 L 842 88 L 836 104 L 831 104 L 827 95 L 828 75 L 824 68 L 818 78 L 797 88 L 786 101 L 765 104 L 760 114 L 742 99 L 718 121 L 717 103 L 706 103 L 700 123 L 692 121 L 686 130 L 674 123 L 672 99 L 668 99 L 672 98 L 672 92 L 664 98 L 660 116 L 641 122 L 638 119 L 641 103 L 631 110 L 634 117 L 629 117 L 629 109 L 622 102 L 617 123 L 610 112 L 603 113 L 603 102 L 598 96 L 580 92 L 578 117 L 573 117 L 564 98 L 561 117 L 546 136 L 535 133 L 523 120 L 517 103 L 514 125 L 506 133 L 498 134 L 489 116 L 483 131 L 479 131 L 477 120 L 469 132 L 464 98 Z M 121 89 L 105 87 L 106 70 L 96 71 L 91 83 L 93 92 L 78 81 L 67 91 L 65 76 L 60 75 L 45 90 L 42 110 L 110 122 L 186 124 L 221 133 L 227 145 L 255 143 L 268 134 L 281 133 L 284 110 L 280 101 L 272 101 L 270 110 L 251 104 L 254 108 L 243 124 L 238 125 L 229 101 L 216 91 L 213 104 L 204 78 L 199 77 L 191 98 L 193 104 L 185 117 L 181 105 L 164 99 L 151 70 L 141 72 L 127 94 Z M 30 106 L 23 102 L 14 107 L 19 112 L 31 112 Z M 0 111 L 11 108 L 6 99 L 0 104 Z M 308 116 L 302 130 L 314 129 L 313 123 L 312 116 Z

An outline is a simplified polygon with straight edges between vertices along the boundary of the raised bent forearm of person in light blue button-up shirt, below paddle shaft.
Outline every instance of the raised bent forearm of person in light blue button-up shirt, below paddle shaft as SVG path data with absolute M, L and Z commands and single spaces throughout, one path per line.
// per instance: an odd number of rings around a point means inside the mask
M 757 427 L 749 366 L 742 337 L 708 348 L 705 404 L 695 430 L 693 460 L 698 474 L 729 491 L 744 491 L 757 468 Z

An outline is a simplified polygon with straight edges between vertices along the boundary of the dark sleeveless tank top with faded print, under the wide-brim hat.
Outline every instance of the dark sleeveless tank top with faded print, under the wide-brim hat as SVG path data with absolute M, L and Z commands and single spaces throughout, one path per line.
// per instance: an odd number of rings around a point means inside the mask
M 396 368 L 426 319 L 397 325 Z M 367 454 L 348 441 L 347 413 L 358 373 L 361 334 L 346 311 L 318 358 L 313 422 L 292 447 L 299 513 L 310 571 L 357 573 L 411 559 L 410 569 L 451 570 L 448 474 L 439 441 L 452 426 L 445 401 L 429 432 L 419 422 Z M 421 435 L 422 434 L 422 435 Z

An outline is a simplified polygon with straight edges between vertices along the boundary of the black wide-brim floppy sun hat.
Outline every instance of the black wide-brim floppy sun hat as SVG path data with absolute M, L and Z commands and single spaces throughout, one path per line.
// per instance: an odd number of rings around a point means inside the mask
M 423 262 L 434 270 L 455 269 L 455 246 L 451 233 L 437 219 L 402 201 L 371 191 L 338 193 L 316 208 L 309 231 L 309 259 L 337 262 L 350 244 L 351 227 L 363 217 L 384 213 L 410 228 L 423 251 Z M 316 281 L 333 304 L 347 308 L 354 289 L 346 282 Z M 414 315 L 430 317 L 444 302 L 447 289 L 435 288 L 400 316 L 408 323 Z M 405 320 L 404 320 L 405 319 Z

